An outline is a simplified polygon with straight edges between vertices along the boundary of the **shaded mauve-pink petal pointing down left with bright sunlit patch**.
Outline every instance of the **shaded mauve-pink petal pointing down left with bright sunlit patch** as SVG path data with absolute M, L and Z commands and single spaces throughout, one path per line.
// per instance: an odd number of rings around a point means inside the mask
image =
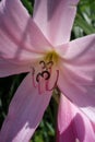
M 16 91 L 1 129 L 0 142 L 28 142 L 49 104 L 51 92 L 38 94 L 28 74 Z M 4 137 L 3 137 L 4 135 Z

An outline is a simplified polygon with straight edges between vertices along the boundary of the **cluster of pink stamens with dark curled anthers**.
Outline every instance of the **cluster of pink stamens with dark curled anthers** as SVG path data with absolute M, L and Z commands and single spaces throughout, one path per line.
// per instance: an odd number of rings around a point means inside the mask
M 57 78 L 54 83 L 54 86 L 49 88 L 49 79 L 51 78 L 51 68 L 54 66 L 54 61 L 50 60 L 45 62 L 44 60 L 39 61 L 40 71 L 36 74 L 35 68 L 31 67 L 32 69 L 32 76 L 33 76 L 33 85 L 34 87 L 38 88 L 38 93 L 41 94 L 45 91 L 52 91 L 57 86 L 58 78 L 59 78 L 59 70 L 57 70 Z

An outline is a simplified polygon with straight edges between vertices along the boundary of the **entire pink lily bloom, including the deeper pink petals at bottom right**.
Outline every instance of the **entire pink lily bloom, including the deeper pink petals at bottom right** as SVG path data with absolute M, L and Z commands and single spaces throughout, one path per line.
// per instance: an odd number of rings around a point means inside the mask
M 61 91 L 57 142 L 95 142 L 95 34 L 70 42 L 79 0 L 0 2 L 0 76 L 28 72 L 0 131 L 0 142 L 28 142 L 52 91 Z

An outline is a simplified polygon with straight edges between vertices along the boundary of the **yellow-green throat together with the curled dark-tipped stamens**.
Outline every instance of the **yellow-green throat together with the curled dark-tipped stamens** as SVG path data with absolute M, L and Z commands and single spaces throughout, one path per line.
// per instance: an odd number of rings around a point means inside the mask
M 46 52 L 43 60 L 39 60 L 37 69 L 32 67 L 33 85 L 38 88 L 39 94 L 52 91 L 57 86 L 59 70 L 56 67 L 58 60 L 58 54 L 49 51 Z

